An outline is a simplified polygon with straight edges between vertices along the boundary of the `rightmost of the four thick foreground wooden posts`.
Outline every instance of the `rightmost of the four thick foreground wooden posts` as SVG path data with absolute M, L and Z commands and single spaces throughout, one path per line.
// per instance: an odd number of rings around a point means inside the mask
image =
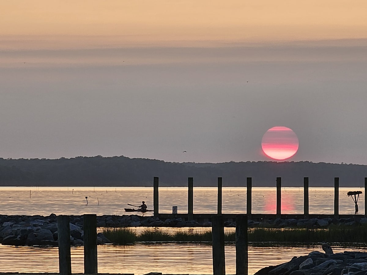
M 236 275 L 248 274 L 247 215 L 236 216 Z

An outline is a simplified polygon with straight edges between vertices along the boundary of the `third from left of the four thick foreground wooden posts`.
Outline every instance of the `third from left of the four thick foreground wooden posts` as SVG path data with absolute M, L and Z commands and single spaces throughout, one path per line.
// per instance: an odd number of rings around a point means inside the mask
M 211 235 L 213 250 L 213 275 L 225 275 L 225 254 L 224 254 L 224 222 L 223 216 L 211 217 Z

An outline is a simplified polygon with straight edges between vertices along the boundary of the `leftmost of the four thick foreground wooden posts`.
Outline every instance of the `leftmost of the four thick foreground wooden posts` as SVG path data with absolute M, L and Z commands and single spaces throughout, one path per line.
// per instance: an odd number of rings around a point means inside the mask
M 70 255 L 70 218 L 66 215 L 57 216 L 57 235 L 59 242 L 59 274 L 71 275 Z

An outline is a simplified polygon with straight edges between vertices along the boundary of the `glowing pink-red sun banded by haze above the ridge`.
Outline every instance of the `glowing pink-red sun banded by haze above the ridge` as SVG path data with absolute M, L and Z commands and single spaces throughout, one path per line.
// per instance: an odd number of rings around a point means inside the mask
M 275 126 L 262 136 L 261 147 L 270 158 L 290 158 L 298 150 L 298 137 L 290 128 Z

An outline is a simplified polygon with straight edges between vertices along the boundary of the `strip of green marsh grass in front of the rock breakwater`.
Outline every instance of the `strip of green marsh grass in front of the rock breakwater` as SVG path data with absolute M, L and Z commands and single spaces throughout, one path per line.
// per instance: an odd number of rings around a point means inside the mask
M 177 231 L 170 234 L 157 228 L 136 234 L 130 228 L 104 228 L 103 234 L 113 243 L 126 245 L 135 242 L 211 242 L 211 231 Z M 225 233 L 225 242 L 235 242 L 235 232 Z M 367 243 L 367 225 L 356 227 L 330 226 L 326 229 L 251 228 L 249 242 L 272 243 Z

